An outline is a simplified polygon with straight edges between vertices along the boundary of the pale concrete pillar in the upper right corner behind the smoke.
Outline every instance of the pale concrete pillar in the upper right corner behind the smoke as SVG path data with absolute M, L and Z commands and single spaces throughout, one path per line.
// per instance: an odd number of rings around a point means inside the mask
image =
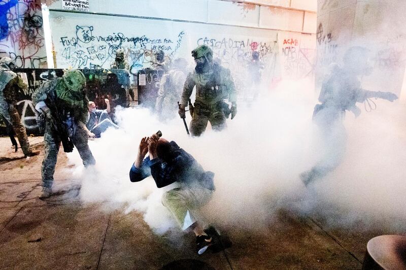
M 406 65 L 406 1 L 318 0 L 316 78 L 351 46 L 369 50 L 373 74 L 362 86 L 400 96 Z

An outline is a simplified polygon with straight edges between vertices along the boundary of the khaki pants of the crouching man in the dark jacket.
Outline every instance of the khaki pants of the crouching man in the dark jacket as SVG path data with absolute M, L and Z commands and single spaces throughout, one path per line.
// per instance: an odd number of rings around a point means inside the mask
M 186 230 L 196 222 L 198 209 L 209 202 L 213 192 L 200 186 L 182 186 L 165 192 L 162 204 L 171 211 L 182 230 Z

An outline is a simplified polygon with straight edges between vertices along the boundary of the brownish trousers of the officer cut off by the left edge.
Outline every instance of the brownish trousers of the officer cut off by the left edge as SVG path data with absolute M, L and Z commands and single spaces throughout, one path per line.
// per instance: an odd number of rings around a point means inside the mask
M 6 105 L 2 104 L 0 113 L 7 121 L 10 121 L 10 124 L 13 126 L 14 132 L 17 136 L 18 142 L 20 143 L 22 152 L 24 153 L 24 155 L 28 155 L 29 153 L 31 153 L 31 149 L 29 148 L 27 132 L 25 131 L 25 127 L 21 123 L 21 118 L 18 114 L 17 108 L 14 105 L 7 105 L 8 108 L 4 107 L 6 107 Z

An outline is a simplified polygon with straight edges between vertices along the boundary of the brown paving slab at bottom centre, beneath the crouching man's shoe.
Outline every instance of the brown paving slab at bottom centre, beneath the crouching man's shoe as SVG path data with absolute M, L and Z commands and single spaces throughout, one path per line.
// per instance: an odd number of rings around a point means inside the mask
M 197 255 L 194 241 L 193 232 L 182 233 L 174 229 L 156 235 L 141 214 L 131 212 L 124 215 L 122 211 L 116 211 L 110 219 L 99 267 L 159 269 L 172 262 L 195 260 L 215 269 L 230 268 L 222 252 Z

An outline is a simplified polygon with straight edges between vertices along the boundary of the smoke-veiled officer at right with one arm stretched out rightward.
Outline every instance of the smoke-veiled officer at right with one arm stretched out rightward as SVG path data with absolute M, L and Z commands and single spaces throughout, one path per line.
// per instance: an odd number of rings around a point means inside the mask
M 387 99 L 390 102 L 397 96 L 390 92 L 368 91 L 361 88 L 358 76 L 368 76 L 371 67 L 367 62 L 367 50 L 363 47 L 351 47 L 347 50 L 344 66 L 333 65 L 331 74 L 323 82 L 319 102 L 313 111 L 313 121 L 320 132 L 318 144 L 323 150 L 322 158 L 311 170 L 300 174 L 305 185 L 326 177 L 339 166 L 344 158 L 347 144 L 347 132 L 344 126 L 346 111 L 361 113 L 356 103 L 365 102 L 368 98 Z

